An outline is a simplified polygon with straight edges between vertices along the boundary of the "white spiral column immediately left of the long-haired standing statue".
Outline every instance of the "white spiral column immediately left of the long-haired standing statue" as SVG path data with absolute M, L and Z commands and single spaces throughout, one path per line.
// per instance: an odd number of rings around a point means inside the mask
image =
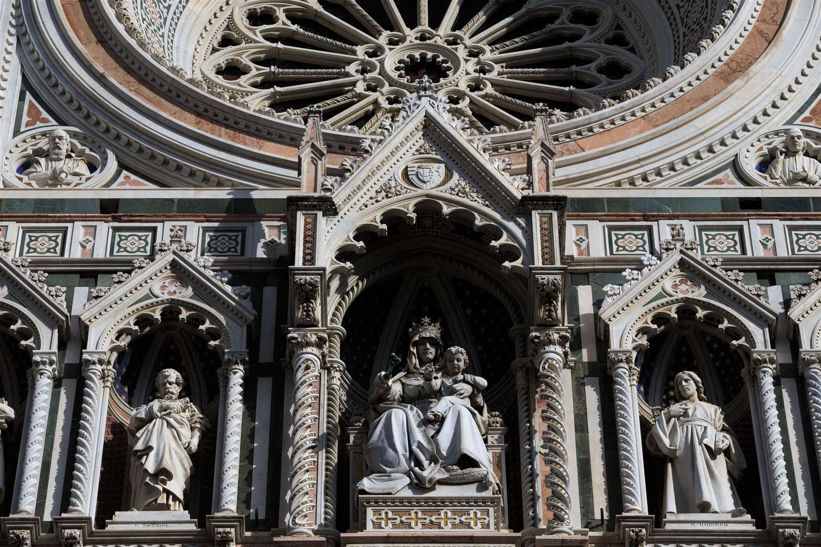
M 638 369 L 633 364 L 633 352 L 629 349 L 611 349 L 608 352 L 608 373 L 613 379 L 621 499 L 624 512 L 647 513 L 638 394 L 635 390 Z

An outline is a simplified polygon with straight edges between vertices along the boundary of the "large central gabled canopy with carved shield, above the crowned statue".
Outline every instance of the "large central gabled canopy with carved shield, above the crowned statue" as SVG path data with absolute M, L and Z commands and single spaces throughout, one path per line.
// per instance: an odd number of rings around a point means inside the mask
M 418 207 L 446 217 L 459 210 L 477 230 L 496 227 L 500 239 L 495 248 L 509 244 L 520 256 L 530 254 L 529 215 L 519 214 L 521 192 L 489 160 L 487 137 L 466 136 L 456 129 L 462 121 L 447 113 L 443 98 L 424 94 L 406 99 L 397 120 L 386 139 L 334 192 L 339 213 L 325 221 L 325 263 L 332 264 L 340 249 L 355 247 L 360 230 L 384 235 L 385 217 L 401 216 L 412 223 Z M 442 163 L 443 175 L 429 187 L 417 187 L 407 180 L 407 167 L 425 163 Z M 530 259 L 520 262 L 526 265 Z

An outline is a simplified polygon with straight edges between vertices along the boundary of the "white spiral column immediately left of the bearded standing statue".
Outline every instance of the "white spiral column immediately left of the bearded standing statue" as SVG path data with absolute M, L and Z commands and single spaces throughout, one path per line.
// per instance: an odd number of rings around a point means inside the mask
M 99 444 L 103 440 L 105 413 L 108 411 L 105 382 L 111 377 L 105 352 L 84 352 L 82 355 L 83 395 L 80 404 L 80 428 L 74 472 L 71 475 L 71 495 L 68 513 L 89 515 L 94 504 L 95 476 Z

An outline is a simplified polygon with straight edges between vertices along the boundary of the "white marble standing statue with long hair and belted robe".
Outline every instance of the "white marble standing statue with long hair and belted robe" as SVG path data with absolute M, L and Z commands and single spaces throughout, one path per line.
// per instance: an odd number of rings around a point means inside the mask
M 667 458 L 663 512 L 744 515 L 732 477 L 747 463 L 722 409 L 704 398 L 695 372 L 679 372 L 675 386 L 677 402 L 647 437 L 649 451 Z

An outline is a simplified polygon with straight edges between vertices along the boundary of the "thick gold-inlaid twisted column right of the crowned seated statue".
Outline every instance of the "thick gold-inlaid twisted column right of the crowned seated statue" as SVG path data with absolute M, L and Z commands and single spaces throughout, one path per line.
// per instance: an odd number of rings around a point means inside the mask
M 539 376 L 539 446 L 541 446 L 541 499 L 544 499 L 543 526 L 552 533 L 573 533 L 570 473 L 567 471 L 567 431 L 565 426 L 562 370 L 567 366 L 570 333 L 558 328 L 530 333 L 530 357 Z

